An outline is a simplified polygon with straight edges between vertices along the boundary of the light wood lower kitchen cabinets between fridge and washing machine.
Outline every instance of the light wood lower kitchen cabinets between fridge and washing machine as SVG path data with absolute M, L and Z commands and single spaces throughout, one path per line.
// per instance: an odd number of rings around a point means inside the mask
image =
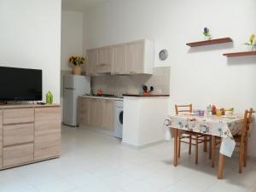
M 114 100 L 79 97 L 79 106 L 83 106 L 79 108 L 79 125 L 88 125 L 113 131 Z

